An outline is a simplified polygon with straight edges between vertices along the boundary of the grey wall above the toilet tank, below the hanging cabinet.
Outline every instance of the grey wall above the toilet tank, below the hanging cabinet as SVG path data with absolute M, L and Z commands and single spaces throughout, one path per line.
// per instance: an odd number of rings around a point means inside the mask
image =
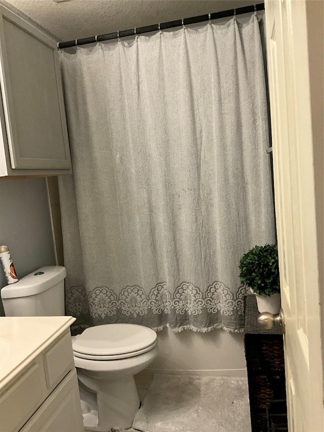
M 45 178 L 0 179 L 0 244 L 9 247 L 18 278 L 55 265 Z M 2 288 L 7 281 L 0 267 Z

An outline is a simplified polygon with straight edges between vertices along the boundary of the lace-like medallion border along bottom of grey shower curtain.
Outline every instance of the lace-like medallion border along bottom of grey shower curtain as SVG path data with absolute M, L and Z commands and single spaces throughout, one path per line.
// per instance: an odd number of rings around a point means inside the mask
M 175 333 L 183 330 L 206 333 L 216 328 L 222 328 L 225 331 L 236 333 L 243 331 L 243 329 L 227 327 L 222 323 L 200 327 L 199 325 L 193 325 L 192 321 L 197 320 L 198 324 L 200 316 L 203 316 L 204 313 L 217 314 L 218 321 L 225 317 L 230 318 L 233 315 L 242 316 L 244 313 L 243 299 L 249 292 L 248 287 L 241 286 L 233 294 L 229 288 L 218 281 L 211 284 L 205 293 L 193 284 L 183 282 L 176 288 L 173 295 L 169 291 L 166 282 L 156 284 L 148 295 L 138 285 L 127 286 L 121 290 L 118 296 L 112 289 L 107 287 L 96 287 L 87 293 L 83 286 L 76 286 L 67 289 L 66 304 L 70 315 L 76 317 L 90 315 L 95 320 L 113 320 L 119 316 L 123 321 L 128 322 L 130 319 L 138 320 L 150 312 L 151 318 L 163 316 L 161 321 L 164 322 L 169 321 L 168 317 L 173 318 L 174 314 L 184 318 L 188 317 L 188 320 L 191 321 L 191 323 L 189 321 L 188 324 L 180 324 L 176 327 L 171 327 L 170 323 L 156 326 L 156 320 L 148 318 L 148 326 L 151 321 L 149 327 L 155 331 L 161 331 L 164 327 L 167 327 Z M 77 327 L 85 328 L 88 326 Z

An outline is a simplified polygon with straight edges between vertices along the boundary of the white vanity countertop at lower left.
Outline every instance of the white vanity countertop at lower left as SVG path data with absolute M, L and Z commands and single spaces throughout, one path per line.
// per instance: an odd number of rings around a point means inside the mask
M 0 389 L 74 321 L 72 317 L 0 317 Z

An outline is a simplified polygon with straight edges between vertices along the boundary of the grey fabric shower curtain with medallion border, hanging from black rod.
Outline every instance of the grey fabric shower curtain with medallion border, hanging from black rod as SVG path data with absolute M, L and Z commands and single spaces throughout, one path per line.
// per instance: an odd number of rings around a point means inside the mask
M 257 16 L 79 47 L 61 65 L 67 313 L 241 331 L 240 257 L 274 243 Z

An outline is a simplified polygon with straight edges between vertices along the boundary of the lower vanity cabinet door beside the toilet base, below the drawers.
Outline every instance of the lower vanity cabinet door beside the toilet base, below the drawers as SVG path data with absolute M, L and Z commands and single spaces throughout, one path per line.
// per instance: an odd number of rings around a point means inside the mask
M 56 387 L 20 432 L 84 432 L 75 369 Z

